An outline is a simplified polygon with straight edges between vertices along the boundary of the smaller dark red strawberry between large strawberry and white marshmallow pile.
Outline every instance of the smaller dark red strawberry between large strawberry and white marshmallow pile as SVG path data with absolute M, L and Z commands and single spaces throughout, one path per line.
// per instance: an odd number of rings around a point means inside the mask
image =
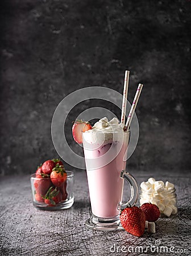
M 155 222 L 160 217 L 160 210 L 156 204 L 145 203 L 140 209 L 143 210 L 147 221 Z

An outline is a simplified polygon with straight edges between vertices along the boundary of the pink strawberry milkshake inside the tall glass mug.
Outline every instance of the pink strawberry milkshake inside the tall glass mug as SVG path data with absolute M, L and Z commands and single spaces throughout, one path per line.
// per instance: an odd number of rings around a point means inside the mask
M 88 176 L 89 194 L 94 216 L 112 218 L 120 213 L 123 179 L 121 171 L 126 168 L 124 155 L 130 133 L 121 131 L 98 131 L 96 139 L 84 133 L 84 155 Z

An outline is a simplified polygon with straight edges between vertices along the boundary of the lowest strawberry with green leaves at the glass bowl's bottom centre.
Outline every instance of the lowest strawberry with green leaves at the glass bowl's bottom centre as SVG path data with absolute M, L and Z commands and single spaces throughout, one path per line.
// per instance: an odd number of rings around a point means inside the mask
M 49 206 L 55 206 L 62 200 L 62 194 L 59 189 L 50 187 L 44 196 L 44 203 Z

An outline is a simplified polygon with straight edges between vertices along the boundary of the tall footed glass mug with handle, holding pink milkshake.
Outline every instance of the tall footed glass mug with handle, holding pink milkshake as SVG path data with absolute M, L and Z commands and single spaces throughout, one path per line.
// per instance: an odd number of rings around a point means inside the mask
M 96 230 L 123 229 L 121 209 L 135 205 L 139 194 L 136 180 L 125 171 L 130 131 L 85 132 L 82 136 L 93 213 L 86 226 Z M 126 203 L 122 202 L 124 180 L 131 187 Z

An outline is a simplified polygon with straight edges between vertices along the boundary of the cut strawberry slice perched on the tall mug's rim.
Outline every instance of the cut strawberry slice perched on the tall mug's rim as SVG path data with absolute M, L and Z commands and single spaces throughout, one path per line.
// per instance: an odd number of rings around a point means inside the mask
M 72 135 L 74 141 L 77 143 L 82 143 L 82 133 L 90 129 L 92 129 L 92 126 L 89 124 L 89 122 L 76 120 L 72 126 Z

